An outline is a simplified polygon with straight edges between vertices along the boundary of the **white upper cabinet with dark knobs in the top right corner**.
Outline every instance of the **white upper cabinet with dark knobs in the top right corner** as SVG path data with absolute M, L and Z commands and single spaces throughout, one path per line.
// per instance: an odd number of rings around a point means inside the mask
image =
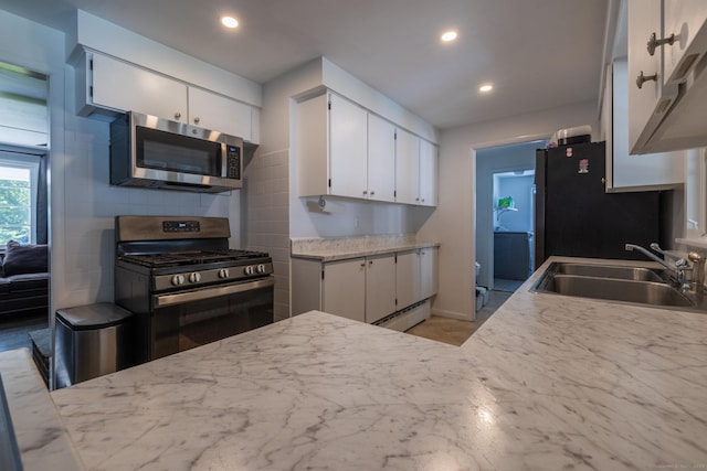
M 707 146 L 707 2 L 629 0 L 631 153 Z

